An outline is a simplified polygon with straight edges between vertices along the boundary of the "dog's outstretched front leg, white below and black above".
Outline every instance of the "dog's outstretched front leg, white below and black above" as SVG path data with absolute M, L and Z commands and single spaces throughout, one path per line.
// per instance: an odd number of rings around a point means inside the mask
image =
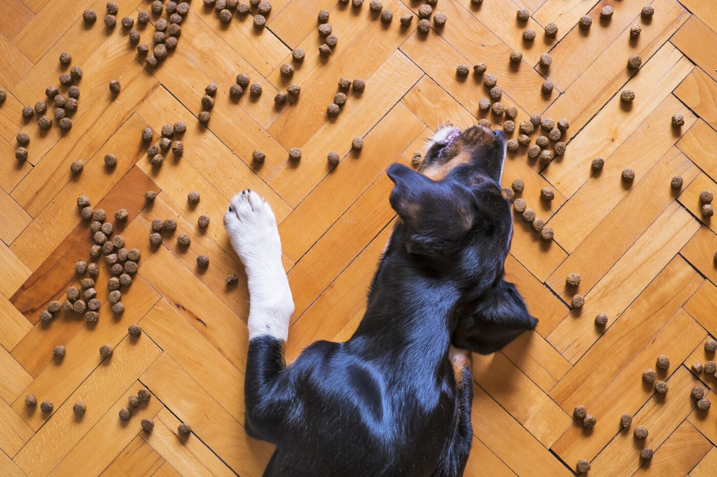
M 244 263 L 249 286 L 249 356 L 244 377 L 247 431 L 277 443 L 291 394 L 284 344 L 294 312 L 281 262 L 279 231 L 269 204 L 249 190 L 232 198 L 224 226 Z

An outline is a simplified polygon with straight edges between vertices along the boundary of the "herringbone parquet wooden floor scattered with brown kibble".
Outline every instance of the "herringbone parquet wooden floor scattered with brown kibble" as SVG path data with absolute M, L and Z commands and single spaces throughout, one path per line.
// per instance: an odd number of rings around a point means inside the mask
M 402 27 L 399 18 L 417 14 L 419 3 L 384 0 L 394 19 L 382 24 L 369 10 L 336 0 L 272 0 L 267 28 L 255 30 L 252 16 L 235 15 L 222 24 L 211 7 L 191 2 L 181 24 L 178 47 L 156 69 L 146 69 L 119 25 L 123 16 L 149 9 L 143 0 L 118 0 L 118 26 L 106 29 L 104 0 L 3 0 L 0 15 L 0 474 L 3 476 L 181 474 L 260 476 L 270 458 L 267 443 L 248 438 L 243 428 L 243 371 L 247 354 L 248 297 L 242 265 L 222 227 L 229 198 L 242 188 L 270 201 L 284 246 L 296 304 L 290 329 L 290 358 L 315 339 L 346 339 L 364 311 L 366 287 L 391 230 L 391 183 L 384 170 L 411 164 L 437 125 L 451 120 L 465 127 L 485 117 L 478 112 L 488 96 L 480 77 L 456 77 L 458 64 L 485 62 L 503 89 L 503 104 L 518 109 L 516 124 L 533 113 L 569 120 L 561 138 L 566 153 L 543 167 L 527 148 L 509 153 L 505 187 L 522 178 L 518 194 L 554 229 L 540 240 L 516 214 L 511 255 L 505 267 L 531 312 L 536 332 L 503 352 L 475 356 L 473 451 L 468 476 L 567 476 L 579 460 L 592 474 L 628 476 L 709 476 L 717 473 L 717 410 L 696 410 L 690 390 L 717 390 L 717 380 L 690 370 L 714 356 L 703 344 L 717 334 L 717 221 L 704 218 L 698 196 L 717 193 L 717 9 L 711 0 L 439 0 L 447 16 L 442 28 L 425 35 L 418 18 Z M 164 2 L 165 4 L 168 2 Z M 640 18 L 650 3 L 652 19 Z M 606 4 L 612 19 L 601 20 Z M 87 26 L 82 11 L 98 21 Z M 331 11 L 338 45 L 330 57 L 316 16 Z M 531 18 L 521 23 L 516 10 Z M 252 8 L 252 12 L 255 9 Z M 589 31 L 579 29 L 592 17 Z M 151 15 L 154 23 L 159 16 Z M 558 26 L 555 38 L 543 26 Z M 630 26 L 642 34 L 630 39 Z M 526 28 L 536 39 L 523 42 Z M 154 28 L 139 26 L 141 42 Z M 303 63 L 292 50 L 303 48 Z M 518 65 L 511 50 L 523 53 Z M 83 70 L 72 130 L 57 125 L 39 130 L 24 121 L 24 105 L 44 100 L 48 85 L 69 66 L 61 52 Z M 541 54 L 553 59 L 538 66 Z M 629 69 L 632 54 L 640 69 Z M 287 80 L 279 67 L 293 63 Z M 234 102 L 229 87 L 238 73 L 262 86 Z M 366 80 L 363 93 L 348 94 L 336 118 L 326 107 L 340 77 Z M 554 83 L 541 94 L 545 79 Z M 119 95 L 108 91 L 119 80 Z M 199 124 L 204 87 L 219 90 L 208 127 Z M 277 91 L 289 82 L 302 87 L 291 104 L 275 106 Z M 66 94 L 67 87 L 60 91 Z M 620 92 L 635 92 L 625 105 Z M 52 107 L 50 107 L 52 110 Z M 685 124 L 675 128 L 670 117 Z M 51 115 L 51 114 L 50 114 Z M 141 131 L 184 121 L 184 155 L 166 153 L 161 168 L 147 158 Z M 27 162 L 14 158 L 15 135 L 31 138 Z M 533 143 L 546 131 L 531 134 Z M 517 138 L 518 131 L 509 135 Z M 351 140 L 364 138 L 360 153 Z M 301 148 L 300 163 L 288 160 Z M 551 146 L 552 149 L 552 146 Z M 252 164 L 252 151 L 266 160 Z M 327 154 L 341 163 L 331 168 Z M 105 168 L 105 154 L 118 158 Z M 592 173 L 594 158 L 604 169 Z M 75 175 L 70 164 L 84 162 Z M 625 183 L 624 168 L 635 170 Z M 680 191 L 670 179 L 680 175 Z M 551 187 L 555 198 L 542 201 Z M 157 191 L 153 202 L 146 191 Z M 201 201 L 187 203 L 190 191 Z M 125 312 L 110 311 L 110 266 L 98 261 L 100 319 L 59 312 L 52 322 L 39 314 L 52 300 L 65 300 L 77 285 L 78 259 L 88 260 L 89 223 L 82 221 L 78 196 L 89 196 L 106 211 L 127 248 L 141 250 L 133 284 L 123 287 Z M 128 211 L 126 222 L 115 211 Z M 207 214 L 206 229 L 196 225 Z M 174 218 L 174 233 L 161 246 L 148 236 L 153 218 Z M 187 233 L 191 246 L 176 245 Z M 207 269 L 196 256 L 210 259 Z M 239 284 L 227 286 L 228 274 Z M 569 273 L 582 281 L 565 285 Z M 584 295 L 571 310 L 572 295 Z M 604 329 L 594 317 L 607 314 Z M 141 337 L 128 335 L 138 324 Z M 54 360 L 52 349 L 66 355 Z M 100 345 L 114 354 L 103 360 Z M 642 382 L 658 355 L 670 358 L 658 373 L 669 386 L 657 395 Z M 127 422 L 118 412 L 128 397 L 146 387 L 151 399 Z M 27 408 L 26 395 L 54 404 Z M 711 392 L 708 400 L 713 400 Z M 82 402 L 85 415 L 72 406 Z M 597 418 L 586 430 L 572 417 L 584 405 Z M 632 428 L 650 434 L 636 440 L 620 430 L 619 418 L 634 416 Z M 143 418 L 154 428 L 145 433 Z M 177 432 L 191 425 L 189 437 Z M 655 450 L 650 463 L 640 450 Z

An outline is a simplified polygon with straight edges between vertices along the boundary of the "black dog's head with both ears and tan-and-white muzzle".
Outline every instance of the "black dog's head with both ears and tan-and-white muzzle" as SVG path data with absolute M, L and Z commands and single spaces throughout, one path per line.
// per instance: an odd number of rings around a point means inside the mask
M 534 329 L 515 286 L 503 280 L 511 246 L 511 206 L 500 189 L 505 135 L 473 126 L 440 130 L 419 172 L 394 164 L 391 206 L 402 221 L 402 245 L 460 290 L 453 344 L 488 354 Z

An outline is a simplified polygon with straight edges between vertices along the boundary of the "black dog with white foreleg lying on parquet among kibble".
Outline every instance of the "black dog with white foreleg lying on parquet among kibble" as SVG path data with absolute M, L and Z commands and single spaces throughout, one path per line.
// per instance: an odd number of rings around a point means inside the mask
M 276 446 L 265 476 L 460 476 L 470 453 L 470 352 L 500 350 L 537 320 L 503 279 L 511 206 L 505 135 L 445 127 L 418 172 L 391 165 L 399 220 L 346 342 L 287 365 L 294 310 L 274 214 L 257 193 L 224 216 L 250 292 L 245 428 Z

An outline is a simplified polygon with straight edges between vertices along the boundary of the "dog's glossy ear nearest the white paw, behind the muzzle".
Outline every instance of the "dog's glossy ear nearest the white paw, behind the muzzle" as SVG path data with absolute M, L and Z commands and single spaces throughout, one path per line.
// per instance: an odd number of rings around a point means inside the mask
M 389 201 L 406 227 L 406 248 L 412 254 L 438 254 L 451 249 L 475 222 L 477 209 L 466 191 L 437 182 L 405 165 L 386 170 L 394 181 Z

